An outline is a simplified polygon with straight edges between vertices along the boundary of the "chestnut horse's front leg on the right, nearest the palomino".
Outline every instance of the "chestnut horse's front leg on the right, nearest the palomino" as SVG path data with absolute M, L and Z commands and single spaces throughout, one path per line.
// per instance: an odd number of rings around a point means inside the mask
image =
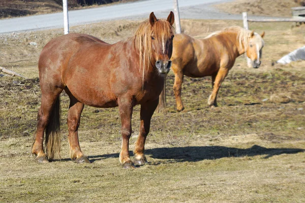
M 159 100 L 150 101 L 143 105 L 141 105 L 141 124 L 140 124 L 140 132 L 139 137 L 135 143 L 134 148 L 134 155 L 135 155 L 135 164 L 137 165 L 143 165 L 147 162 L 146 157 L 144 155 L 144 145 L 145 140 L 147 137 L 147 134 L 149 132 L 150 128 L 150 120 L 151 116 L 153 116 L 157 106 L 158 106 Z

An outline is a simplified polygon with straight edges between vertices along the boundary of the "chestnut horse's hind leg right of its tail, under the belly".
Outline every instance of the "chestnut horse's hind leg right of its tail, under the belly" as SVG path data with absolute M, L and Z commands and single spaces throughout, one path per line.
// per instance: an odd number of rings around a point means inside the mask
M 70 157 L 76 163 L 90 163 L 89 159 L 81 152 L 78 141 L 78 127 L 80 123 L 80 115 L 84 108 L 84 104 L 80 103 L 71 94 L 68 88 L 66 88 L 65 91 L 70 97 L 70 106 L 67 119 L 69 130 L 68 141 L 70 145 Z

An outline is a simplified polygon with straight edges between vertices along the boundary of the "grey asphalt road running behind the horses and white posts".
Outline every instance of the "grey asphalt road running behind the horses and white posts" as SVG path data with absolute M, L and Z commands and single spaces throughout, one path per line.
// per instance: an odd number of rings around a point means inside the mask
M 189 19 L 234 19 L 241 15 L 220 13 L 211 5 L 232 0 L 178 0 L 180 18 Z M 93 9 L 69 11 L 69 24 L 80 25 L 113 19 L 148 18 L 154 11 L 157 18 L 166 18 L 173 10 L 173 0 L 142 0 Z M 64 27 L 63 13 L 53 13 L 0 20 L 0 33 Z

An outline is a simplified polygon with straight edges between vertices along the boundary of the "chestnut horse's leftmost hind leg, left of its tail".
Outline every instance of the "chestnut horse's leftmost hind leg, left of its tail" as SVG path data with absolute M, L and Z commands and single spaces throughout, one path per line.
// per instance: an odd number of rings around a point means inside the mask
M 43 87 L 43 86 L 42 86 Z M 52 108 L 55 104 L 55 101 L 60 93 L 62 93 L 62 89 L 55 89 L 54 91 L 42 91 L 41 96 L 41 106 L 37 116 L 37 131 L 35 134 L 35 141 L 32 146 L 32 154 L 36 157 L 36 161 L 39 163 L 47 163 L 49 162 L 48 157 L 43 149 L 43 137 L 45 128 L 49 122 L 49 117 L 51 115 Z

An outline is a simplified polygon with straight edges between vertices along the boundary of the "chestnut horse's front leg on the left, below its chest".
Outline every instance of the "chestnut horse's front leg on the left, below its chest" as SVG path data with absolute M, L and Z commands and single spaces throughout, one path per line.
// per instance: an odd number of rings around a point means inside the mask
M 119 115 L 121 118 L 122 146 L 119 153 L 119 162 L 124 168 L 135 168 L 129 156 L 129 139 L 131 136 L 131 117 L 133 102 L 131 98 L 118 98 Z

